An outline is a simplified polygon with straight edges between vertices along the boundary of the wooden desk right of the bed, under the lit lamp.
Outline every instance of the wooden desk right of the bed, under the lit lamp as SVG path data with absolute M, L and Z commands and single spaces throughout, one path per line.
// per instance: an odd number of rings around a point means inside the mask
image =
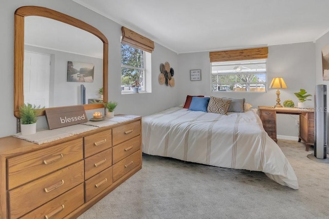
M 277 113 L 299 115 L 299 139 L 306 144 L 306 151 L 309 146 L 314 146 L 314 108 L 276 108 L 259 106 L 259 115 L 263 127 L 267 134 L 274 140 L 277 140 Z

